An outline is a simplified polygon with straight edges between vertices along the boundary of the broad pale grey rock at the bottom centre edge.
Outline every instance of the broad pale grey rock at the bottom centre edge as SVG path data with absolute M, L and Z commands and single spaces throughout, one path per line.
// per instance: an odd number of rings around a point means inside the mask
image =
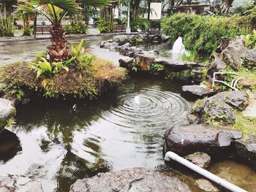
M 114 173 L 99 173 L 94 177 L 77 180 L 70 192 L 162 191 L 189 192 L 189 187 L 176 177 L 169 177 L 146 168 L 124 169 Z

